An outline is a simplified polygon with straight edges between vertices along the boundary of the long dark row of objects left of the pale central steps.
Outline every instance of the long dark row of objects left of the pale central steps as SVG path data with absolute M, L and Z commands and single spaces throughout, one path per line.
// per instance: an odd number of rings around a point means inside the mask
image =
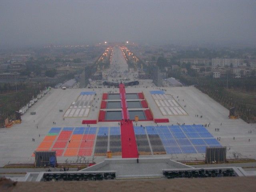
M 114 172 L 108 173 L 44 173 L 42 181 L 86 181 L 86 180 L 103 180 L 115 179 Z

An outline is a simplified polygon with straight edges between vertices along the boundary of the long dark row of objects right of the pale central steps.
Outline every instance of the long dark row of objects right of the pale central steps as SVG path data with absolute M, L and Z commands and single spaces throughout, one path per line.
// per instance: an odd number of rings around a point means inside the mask
M 182 170 L 182 171 L 164 171 L 164 176 L 172 178 L 198 178 L 198 177 L 226 177 L 237 176 L 233 169 L 213 169 L 213 170 Z

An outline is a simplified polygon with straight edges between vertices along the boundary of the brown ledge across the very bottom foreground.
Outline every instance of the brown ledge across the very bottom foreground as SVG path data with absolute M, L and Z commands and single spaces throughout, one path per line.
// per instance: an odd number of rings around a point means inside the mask
M 249 192 L 256 190 L 255 177 L 230 178 L 193 178 L 193 179 L 148 179 L 148 180 L 104 180 L 86 182 L 18 182 L 16 186 L 3 188 L 0 191 L 34 192 L 34 191 L 140 191 L 140 192 Z

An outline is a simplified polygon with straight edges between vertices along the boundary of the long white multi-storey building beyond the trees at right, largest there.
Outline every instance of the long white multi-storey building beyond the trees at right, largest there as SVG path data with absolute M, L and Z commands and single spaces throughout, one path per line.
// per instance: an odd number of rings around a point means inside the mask
M 231 67 L 238 67 L 243 63 L 242 59 L 224 59 L 224 58 L 214 58 L 212 59 L 212 68 L 216 68 L 218 66 L 231 66 Z

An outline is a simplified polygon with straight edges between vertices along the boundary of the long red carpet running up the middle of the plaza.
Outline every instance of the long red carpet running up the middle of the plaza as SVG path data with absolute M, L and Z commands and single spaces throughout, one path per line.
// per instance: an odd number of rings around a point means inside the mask
M 121 142 L 122 142 L 122 158 L 138 158 L 138 149 L 132 121 L 128 121 L 128 111 L 125 102 L 124 84 L 119 84 L 119 91 L 122 99 L 122 112 L 124 120 L 121 121 Z

